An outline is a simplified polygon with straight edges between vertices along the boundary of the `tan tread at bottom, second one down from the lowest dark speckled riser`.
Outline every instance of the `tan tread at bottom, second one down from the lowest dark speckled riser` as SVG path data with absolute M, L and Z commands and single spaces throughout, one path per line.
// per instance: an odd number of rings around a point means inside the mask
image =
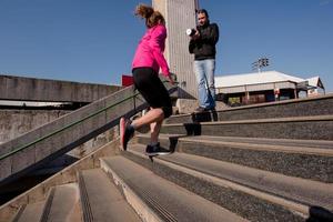
M 83 221 L 141 221 L 101 169 L 78 173 Z

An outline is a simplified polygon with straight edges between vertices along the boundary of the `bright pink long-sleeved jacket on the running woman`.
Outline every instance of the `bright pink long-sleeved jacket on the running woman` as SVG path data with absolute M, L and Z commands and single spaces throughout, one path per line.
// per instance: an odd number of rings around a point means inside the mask
M 162 24 L 158 24 L 147 30 L 142 37 L 132 62 L 133 68 L 150 67 L 159 73 L 168 77 L 170 74 L 168 63 L 163 56 L 165 48 L 167 29 Z

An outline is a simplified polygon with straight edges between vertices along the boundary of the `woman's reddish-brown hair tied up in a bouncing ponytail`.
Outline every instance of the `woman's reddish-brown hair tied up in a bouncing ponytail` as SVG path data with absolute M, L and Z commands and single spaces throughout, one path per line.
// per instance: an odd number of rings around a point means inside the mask
M 165 23 L 164 17 L 161 14 L 161 12 L 155 11 L 152 7 L 147 4 L 139 4 L 135 8 L 135 16 L 145 19 L 145 26 L 148 28 L 152 28 L 160 22 Z

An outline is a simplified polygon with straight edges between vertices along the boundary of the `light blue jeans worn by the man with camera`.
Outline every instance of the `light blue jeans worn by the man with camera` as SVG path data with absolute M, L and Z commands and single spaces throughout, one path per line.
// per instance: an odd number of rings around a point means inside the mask
M 194 73 L 199 91 L 199 105 L 202 108 L 215 108 L 215 60 L 194 60 Z

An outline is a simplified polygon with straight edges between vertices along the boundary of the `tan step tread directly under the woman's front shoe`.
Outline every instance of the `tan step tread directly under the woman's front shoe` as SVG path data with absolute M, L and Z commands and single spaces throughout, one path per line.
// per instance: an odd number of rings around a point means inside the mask
M 134 154 L 144 154 L 144 145 L 131 147 Z M 333 184 L 286 176 L 224 161 L 174 152 L 159 160 L 189 168 L 254 190 L 283 196 L 297 203 L 333 209 Z

